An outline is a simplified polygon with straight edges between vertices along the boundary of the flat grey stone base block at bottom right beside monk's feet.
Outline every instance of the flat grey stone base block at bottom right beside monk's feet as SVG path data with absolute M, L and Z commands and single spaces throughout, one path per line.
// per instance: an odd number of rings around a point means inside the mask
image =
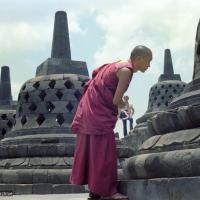
M 129 200 L 198 200 L 200 178 L 159 178 L 119 181 L 118 189 Z

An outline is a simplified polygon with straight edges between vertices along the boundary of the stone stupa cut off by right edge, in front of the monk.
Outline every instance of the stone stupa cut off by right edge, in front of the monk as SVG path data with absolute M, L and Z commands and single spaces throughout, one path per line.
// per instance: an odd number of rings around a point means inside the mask
M 154 136 L 125 164 L 120 188 L 130 200 L 200 197 L 200 21 L 194 55 L 193 80 L 166 111 L 151 118 Z

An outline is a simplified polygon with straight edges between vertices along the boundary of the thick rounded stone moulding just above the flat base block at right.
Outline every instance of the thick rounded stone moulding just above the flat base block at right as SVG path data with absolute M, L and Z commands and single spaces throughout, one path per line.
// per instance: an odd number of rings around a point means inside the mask
M 127 179 L 200 175 L 200 148 L 141 154 L 124 165 Z

